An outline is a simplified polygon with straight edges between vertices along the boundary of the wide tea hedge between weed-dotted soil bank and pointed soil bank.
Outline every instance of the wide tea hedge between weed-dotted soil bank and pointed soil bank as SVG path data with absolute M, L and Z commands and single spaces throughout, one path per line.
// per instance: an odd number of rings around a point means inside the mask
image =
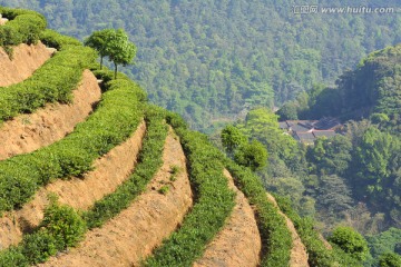
M 166 119 L 179 136 L 187 157 L 195 204 L 180 228 L 163 241 L 145 265 L 190 266 L 223 228 L 234 207 L 234 192 L 223 175 L 222 155 L 206 136 L 187 130 L 176 115 L 168 113 Z

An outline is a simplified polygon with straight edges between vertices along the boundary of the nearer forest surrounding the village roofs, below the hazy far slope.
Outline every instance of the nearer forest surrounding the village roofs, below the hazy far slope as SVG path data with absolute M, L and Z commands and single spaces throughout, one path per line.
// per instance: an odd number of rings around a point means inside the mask
M 324 233 L 346 225 L 365 235 L 374 258 L 366 266 L 376 266 L 380 256 L 400 254 L 399 70 L 400 46 L 372 52 L 335 87 L 316 86 L 286 102 L 277 115 L 254 109 L 221 135 L 221 146 L 231 157 L 254 166 L 266 189 L 288 196 L 300 214 L 317 219 Z M 299 144 L 278 127 L 278 119 L 324 116 L 343 120 L 341 135 L 319 138 L 313 146 Z M 242 160 L 244 148 L 255 141 L 268 152 L 267 164 L 256 157 L 261 151 L 255 147 L 250 160 Z

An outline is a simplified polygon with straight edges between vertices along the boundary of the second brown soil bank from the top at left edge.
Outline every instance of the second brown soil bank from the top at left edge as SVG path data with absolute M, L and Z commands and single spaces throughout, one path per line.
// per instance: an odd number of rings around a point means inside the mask
M 70 105 L 48 103 L 35 113 L 20 115 L 2 123 L 0 160 L 31 152 L 60 140 L 88 117 L 92 106 L 101 97 L 97 79 L 89 70 L 84 71 L 82 79 L 72 95 L 74 102 Z

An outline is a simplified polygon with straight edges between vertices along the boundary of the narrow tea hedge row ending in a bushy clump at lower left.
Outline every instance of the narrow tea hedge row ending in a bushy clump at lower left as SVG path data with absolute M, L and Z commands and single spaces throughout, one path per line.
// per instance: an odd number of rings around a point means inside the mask
M 116 191 L 95 202 L 82 216 L 71 207 L 50 199 L 39 227 L 32 234 L 25 235 L 18 247 L 10 247 L 0 253 L 0 267 L 43 263 L 57 251 L 75 247 L 88 228 L 101 226 L 127 208 L 135 197 L 145 190 L 147 182 L 163 165 L 164 142 L 168 132 L 164 122 L 164 111 L 148 107 L 146 123 L 147 132 L 138 156 L 138 165 L 128 180 Z

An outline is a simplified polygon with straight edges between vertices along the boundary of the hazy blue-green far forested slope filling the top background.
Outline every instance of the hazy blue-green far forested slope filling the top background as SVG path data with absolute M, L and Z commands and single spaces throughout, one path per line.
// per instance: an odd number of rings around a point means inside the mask
M 401 41 L 401 18 L 387 14 L 297 14 L 295 1 L 0 0 L 40 11 L 49 27 L 78 39 L 124 28 L 138 47 L 125 71 L 153 102 L 193 128 L 244 118 L 334 83 L 369 52 Z M 312 3 L 311 3 L 312 4 Z M 392 1 L 358 6 L 394 7 Z M 355 6 L 319 1 L 319 7 Z

